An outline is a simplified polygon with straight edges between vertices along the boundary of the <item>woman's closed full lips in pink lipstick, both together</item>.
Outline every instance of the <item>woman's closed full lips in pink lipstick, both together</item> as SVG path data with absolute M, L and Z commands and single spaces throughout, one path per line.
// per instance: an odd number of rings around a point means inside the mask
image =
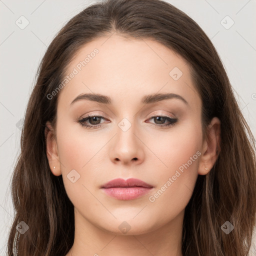
M 101 186 L 106 194 L 119 200 L 135 199 L 147 194 L 152 187 L 152 185 L 136 178 L 129 178 L 127 180 L 116 178 Z

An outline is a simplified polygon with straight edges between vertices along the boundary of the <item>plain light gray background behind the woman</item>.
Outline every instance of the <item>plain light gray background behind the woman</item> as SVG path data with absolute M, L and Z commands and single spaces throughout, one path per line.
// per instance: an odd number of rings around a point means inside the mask
M 166 0 L 193 18 L 216 47 L 242 113 L 256 136 L 256 0 Z M 0 0 L 0 256 L 13 220 L 9 182 L 20 129 L 47 45 L 57 31 L 94 0 Z M 20 29 L 23 15 L 29 24 Z M 224 26 L 229 26 L 226 29 Z M 223 19 L 224 18 L 224 19 Z M 221 21 L 222 20 L 222 21 Z M 24 19 L 23 19 L 24 22 Z M 226 23 L 226 24 L 225 24 Z M 23 23 L 24 24 L 24 23 Z M 224 26 L 223 26 L 224 25 Z M 256 239 L 253 239 L 256 244 Z M 252 254 L 256 250 L 252 249 Z

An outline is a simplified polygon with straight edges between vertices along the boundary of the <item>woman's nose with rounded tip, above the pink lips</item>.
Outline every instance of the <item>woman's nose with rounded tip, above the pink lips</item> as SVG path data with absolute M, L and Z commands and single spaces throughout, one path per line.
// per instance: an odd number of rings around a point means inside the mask
M 111 140 L 109 148 L 111 160 L 115 164 L 130 165 L 141 163 L 144 158 L 143 143 L 135 130 L 135 125 L 131 123 L 127 130 L 120 127 L 116 128 L 116 134 Z

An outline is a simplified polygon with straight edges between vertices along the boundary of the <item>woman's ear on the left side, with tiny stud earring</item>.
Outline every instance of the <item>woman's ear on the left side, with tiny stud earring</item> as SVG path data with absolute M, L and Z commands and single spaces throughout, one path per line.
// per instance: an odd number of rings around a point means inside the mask
M 47 154 L 50 170 L 53 175 L 59 176 L 61 175 L 61 170 L 60 170 L 60 162 L 59 162 L 58 151 L 57 151 L 57 141 L 56 141 L 54 130 L 49 121 L 46 122 L 46 127 L 44 129 L 44 136 L 46 141 L 46 154 Z

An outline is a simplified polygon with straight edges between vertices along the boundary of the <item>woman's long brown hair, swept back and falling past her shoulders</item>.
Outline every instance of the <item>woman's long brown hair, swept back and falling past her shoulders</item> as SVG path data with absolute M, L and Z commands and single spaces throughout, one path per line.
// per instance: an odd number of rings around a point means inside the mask
M 185 208 L 183 256 L 245 256 L 256 214 L 255 139 L 233 95 L 225 69 L 210 39 L 184 12 L 161 0 L 106 0 L 70 19 L 52 40 L 37 70 L 26 108 L 11 191 L 15 218 L 8 255 L 65 255 L 74 239 L 74 212 L 62 181 L 49 168 L 44 129 L 56 122 L 58 95 L 47 98 L 65 76 L 67 64 L 84 44 L 118 33 L 150 38 L 187 60 L 202 100 L 205 137 L 212 117 L 221 121 L 217 160 L 198 175 Z M 29 227 L 21 234 L 16 226 Z M 234 229 L 226 234 L 221 225 Z M 21 222 L 21 225 L 23 224 Z

